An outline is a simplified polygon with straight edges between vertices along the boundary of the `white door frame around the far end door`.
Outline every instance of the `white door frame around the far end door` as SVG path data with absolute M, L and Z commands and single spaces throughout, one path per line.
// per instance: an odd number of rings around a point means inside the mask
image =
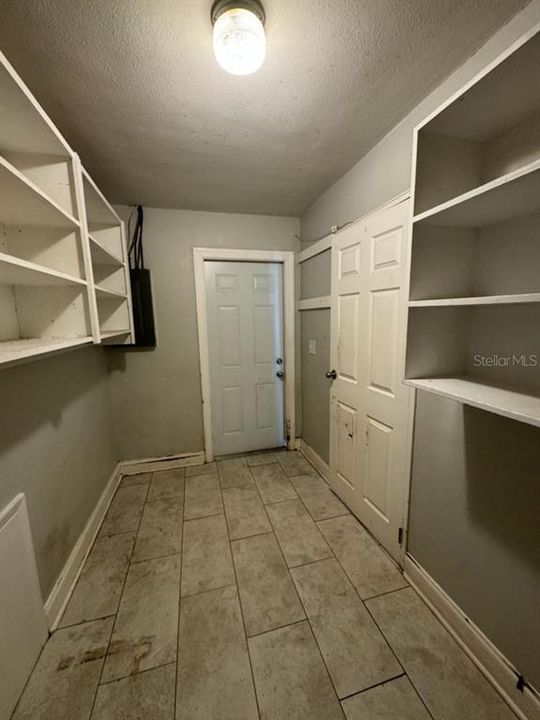
M 195 272 L 195 302 L 197 306 L 197 330 L 199 335 L 199 362 L 201 371 L 201 394 L 203 401 L 204 455 L 206 462 L 214 459 L 212 436 L 212 394 L 210 390 L 210 355 L 208 349 L 208 315 L 204 263 L 208 260 L 225 262 L 274 262 L 283 265 L 283 347 L 285 350 L 285 434 L 287 447 L 294 450 L 296 444 L 295 407 L 295 294 L 294 252 L 292 250 L 250 250 L 227 248 L 193 248 Z

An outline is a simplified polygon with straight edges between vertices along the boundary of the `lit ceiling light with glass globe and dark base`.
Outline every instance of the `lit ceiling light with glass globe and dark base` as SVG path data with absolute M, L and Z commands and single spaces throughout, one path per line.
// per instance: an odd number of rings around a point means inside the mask
M 212 5 L 214 54 L 233 75 L 250 75 L 266 57 L 264 9 L 259 0 L 216 0 Z

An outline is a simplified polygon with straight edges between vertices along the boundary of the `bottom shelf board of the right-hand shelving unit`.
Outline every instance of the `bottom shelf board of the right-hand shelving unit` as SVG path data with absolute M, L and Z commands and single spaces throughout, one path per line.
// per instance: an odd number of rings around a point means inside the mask
M 405 384 L 540 427 L 540 395 L 488 385 L 470 376 L 415 378 L 405 380 Z

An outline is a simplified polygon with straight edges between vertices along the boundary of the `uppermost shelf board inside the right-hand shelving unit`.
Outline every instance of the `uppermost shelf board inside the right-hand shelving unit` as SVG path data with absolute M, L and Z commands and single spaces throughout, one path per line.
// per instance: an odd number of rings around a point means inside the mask
M 475 228 L 540 209 L 540 160 L 480 185 L 413 218 L 416 224 Z

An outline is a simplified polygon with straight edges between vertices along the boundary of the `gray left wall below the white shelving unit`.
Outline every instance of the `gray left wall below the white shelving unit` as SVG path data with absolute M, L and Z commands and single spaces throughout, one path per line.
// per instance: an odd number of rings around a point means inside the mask
M 101 348 L 0 372 L 0 508 L 26 493 L 47 599 L 117 461 Z

